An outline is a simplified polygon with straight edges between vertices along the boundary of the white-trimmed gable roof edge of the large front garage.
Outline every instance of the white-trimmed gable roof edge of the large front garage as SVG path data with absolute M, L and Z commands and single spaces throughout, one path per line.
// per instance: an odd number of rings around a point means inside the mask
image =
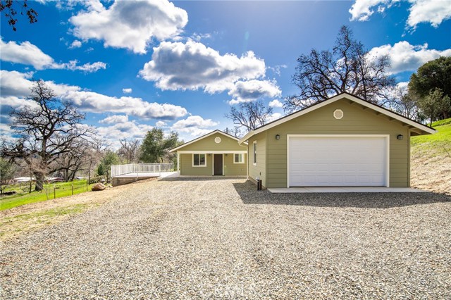
M 362 105 L 364 107 L 371 108 L 373 111 L 377 111 L 378 114 L 387 115 L 389 118 L 392 118 L 392 120 L 393 119 L 399 120 L 400 122 L 409 125 L 411 128 L 416 128 L 416 129 L 420 130 L 422 132 L 421 134 L 423 134 L 423 132 L 426 133 L 426 134 L 427 133 L 428 134 L 433 134 L 433 133 L 436 132 L 432 127 L 429 127 L 429 126 L 423 125 L 421 123 L 418 123 L 418 122 L 416 122 L 414 120 L 411 120 L 409 118 L 404 117 L 403 115 L 400 115 L 398 113 L 394 113 L 393 111 L 389 111 L 387 108 L 384 108 L 382 106 L 378 106 L 376 104 L 372 104 L 371 102 L 366 101 L 364 99 L 360 99 L 357 96 L 354 96 L 354 95 L 352 95 L 350 93 L 342 92 L 342 93 L 340 93 L 338 95 L 335 95 L 335 96 L 333 96 L 333 97 L 331 97 L 331 98 L 329 98 L 327 100 L 318 102 L 318 103 L 313 104 L 313 105 L 311 105 L 311 106 L 309 106 L 307 108 L 304 108 L 301 111 L 296 111 L 295 113 L 291 113 L 290 115 L 285 115 L 285 117 L 283 117 L 283 118 L 280 118 L 278 120 L 274 120 L 271 123 L 265 124 L 263 126 L 260 126 L 260 127 L 256 128 L 256 129 L 254 129 L 254 130 L 251 130 L 251 131 L 247 132 L 247 134 L 244 137 L 242 137 L 238 143 L 242 144 L 243 142 L 247 141 L 253 135 L 257 135 L 260 132 L 268 130 L 268 129 L 272 128 L 272 127 L 276 127 L 277 125 L 280 125 L 282 123 L 288 122 L 289 120 L 292 120 L 292 119 L 295 119 L 295 118 L 297 118 L 297 117 L 299 117 L 301 115 L 305 115 L 307 113 L 310 113 L 311 111 L 315 111 L 318 108 L 321 108 L 323 106 L 326 106 L 328 104 L 331 104 L 331 103 L 333 103 L 335 101 L 338 101 L 338 100 L 341 100 L 341 99 L 348 99 L 348 100 L 350 100 L 352 102 L 355 102 L 357 104 L 360 104 L 360 105 Z

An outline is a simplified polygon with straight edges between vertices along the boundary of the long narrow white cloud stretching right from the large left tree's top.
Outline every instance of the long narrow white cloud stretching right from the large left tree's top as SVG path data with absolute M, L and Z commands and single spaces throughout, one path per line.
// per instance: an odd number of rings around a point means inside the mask
M 173 104 L 158 104 L 156 102 L 149 103 L 141 98 L 133 98 L 122 96 L 117 98 L 114 96 L 106 96 L 96 92 L 67 92 L 61 95 L 61 99 L 71 101 L 82 111 L 90 113 L 126 113 L 140 118 L 156 118 L 174 120 L 181 118 L 187 114 L 182 106 Z

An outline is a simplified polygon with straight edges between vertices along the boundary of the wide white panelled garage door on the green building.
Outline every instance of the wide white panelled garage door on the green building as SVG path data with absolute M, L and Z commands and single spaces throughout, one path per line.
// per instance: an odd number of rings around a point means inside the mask
M 385 137 L 289 137 L 290 187 L 386 186 Z

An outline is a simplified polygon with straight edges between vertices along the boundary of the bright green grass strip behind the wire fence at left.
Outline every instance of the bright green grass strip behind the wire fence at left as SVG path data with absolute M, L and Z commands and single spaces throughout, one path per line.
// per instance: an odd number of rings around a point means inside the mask
M 44 185 L 44 190 L 41 192 L 31 192 L 29 194 L 27 192 L 23 192 L 18 185 L 10 186 L 6 189 L 6 192 L 14 190 L 18 194 L 1 197 L 0 211 L 25 204 L 32 204 L 50 199 L 61 198 L 63 196 L 70 196 L 72 195 L 72 185 L 73 194 L 80 194 L 82 192 L 86 192 L 87 190 L 90 191 L 92 187 L 92 185 L 86 187 L 86 180 L 58 182 L 55 184 Z

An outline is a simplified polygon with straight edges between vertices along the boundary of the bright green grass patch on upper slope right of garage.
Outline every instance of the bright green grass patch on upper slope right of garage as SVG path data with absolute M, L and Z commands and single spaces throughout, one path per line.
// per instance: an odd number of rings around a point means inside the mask
M 434 135 L 412 137 L 412 151 L 421 148 L 422 151 L 433 151 L 433 154 L 451 154 L 451 118 L 432 123 L 438 132 Z

